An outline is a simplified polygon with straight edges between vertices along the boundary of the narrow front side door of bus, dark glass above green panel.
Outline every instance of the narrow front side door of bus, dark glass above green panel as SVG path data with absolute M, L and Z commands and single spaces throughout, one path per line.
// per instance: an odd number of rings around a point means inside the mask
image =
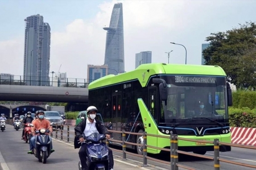
M 147 128 L 145 131 L 148 134 L 155 134 L 158 135 L 158 114 L 159 114 L 159 101 L 158 101 L 158 93 L 156 87 L 148 87 L 148 111 L 150 112 L 149 116 L 147 117 Z M 143 120 L 144 118 L 142 118 Z M 158 138 L 151 137 L 150 135 L 147 136 L 147 145 L 151 146 L 158 146 Z M 155 148 L 148 147 L 147 150 L 156 151 Z

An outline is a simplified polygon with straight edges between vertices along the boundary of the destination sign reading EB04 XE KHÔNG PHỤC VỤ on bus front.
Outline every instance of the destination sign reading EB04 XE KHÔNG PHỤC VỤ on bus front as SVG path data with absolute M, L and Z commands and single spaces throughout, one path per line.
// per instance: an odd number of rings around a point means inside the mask
M 175 76 L 175 83 L 216 83 L 212 76 Z

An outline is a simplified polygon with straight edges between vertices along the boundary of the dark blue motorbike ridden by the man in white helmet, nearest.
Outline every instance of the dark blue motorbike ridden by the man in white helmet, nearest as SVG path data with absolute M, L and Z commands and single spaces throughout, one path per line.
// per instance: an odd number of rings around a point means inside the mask
M 106 135 L 92 133 L 88 137 L 84 137 L 84 139 L 86 143 L 87 169 L 109 170 L 109 151 L 106 143 L 102 142 L 106 139 Z M 81 162 L 79 162 L 79 170 L 81 169 Z

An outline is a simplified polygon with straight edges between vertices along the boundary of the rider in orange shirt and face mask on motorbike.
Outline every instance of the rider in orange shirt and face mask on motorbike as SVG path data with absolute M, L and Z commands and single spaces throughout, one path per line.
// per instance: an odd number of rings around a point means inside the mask
M 31 133 L 34 134 L 34 136 L 30 139 L 30 151 L 28 151 L 28 154 L 34 154 L 34 147 L 35 147 L 35 129 L 49 129 L 50 133 L 52 133 L 52 126 L 50 125 L 50 122 L 46 119 L 44 119 L 44 111 L 40 110 L 38 111 L 38 119 L 35 119 L 32 121 L 32 124 L 34 127 L 31 128 Z M 52 143 L 51 143 L 51 153 L 54 152 L 52 149 Z

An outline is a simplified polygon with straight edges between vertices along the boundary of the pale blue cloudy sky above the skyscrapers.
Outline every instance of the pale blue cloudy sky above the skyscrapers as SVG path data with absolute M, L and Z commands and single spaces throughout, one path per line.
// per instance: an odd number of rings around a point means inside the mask
M 152 62 L 201 63 L 201 44 L 212 32 L 256 21 L 256 1 L 0 1 L 0 73 L 23 74 L 24 19 L 40 14 L 51 27 L 50 71 L 86 78 L 87 65 L 103 65 L 106 31 L 114 3 L 123 3 L 125 70 L 135 53 L 152 51 Z M 13 69 L 15 66 L 15 69 Z M 51 75 L 50 75 L 51 76 Z

